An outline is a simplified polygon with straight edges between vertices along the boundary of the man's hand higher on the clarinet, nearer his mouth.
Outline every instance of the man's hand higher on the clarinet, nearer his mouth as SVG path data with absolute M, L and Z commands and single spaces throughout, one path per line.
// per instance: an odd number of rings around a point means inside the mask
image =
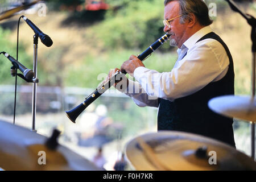
M 145 67 L 141 60 L 137 56 L 131 55 L 129 60 L 125 61 L 121 66 L 121 72 L 133 74 L 134 70 L 138 67 Z

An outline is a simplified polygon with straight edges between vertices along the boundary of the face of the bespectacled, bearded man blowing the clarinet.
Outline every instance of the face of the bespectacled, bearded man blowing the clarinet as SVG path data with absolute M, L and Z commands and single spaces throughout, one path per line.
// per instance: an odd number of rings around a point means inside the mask
M 168 3 L 164 7 L 164 19 L 172 19 L 176 16 L 180 15 L 180 6 L 177 1 L 172 1 Z M 185 30 L 187 28 L 187 23 L 181 24 L 180 18 L 175 18 L 174 20 L 170 21 L 170 28 L 168 26 L 164 26 L 164 32 L 168 32 L 170 34 L 170 46 L 177 46 L 181 47 L 182 44 L 185 42 Z

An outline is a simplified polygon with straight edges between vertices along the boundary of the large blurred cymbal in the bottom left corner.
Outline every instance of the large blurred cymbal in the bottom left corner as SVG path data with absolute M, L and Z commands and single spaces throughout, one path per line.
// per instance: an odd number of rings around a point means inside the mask
M 44 144 L 46 140 L 47 137 L 34 131 L 0 121 L 0 168 L 29 171 L 101 170 L 60 144 L 56 150 L 50 150 Z

